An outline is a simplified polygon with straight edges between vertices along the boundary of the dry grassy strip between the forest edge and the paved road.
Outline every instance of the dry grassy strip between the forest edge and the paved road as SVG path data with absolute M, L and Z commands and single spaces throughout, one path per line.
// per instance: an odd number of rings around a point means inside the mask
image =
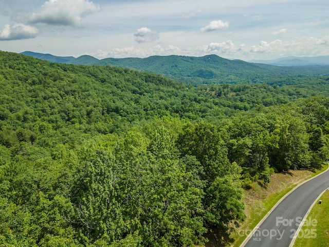
M 246 203 L 245 213 L 247 218 L 241 226 L 236 229 L 236 232 L 231 235 L 234 242 L 227 246 L 240 246 L 250 231 L 252 231 L 267 212 L 286 193 L 303 181 L 315 177 L 317 174 L 325 171 L 327 168 L 328 165 L 326 164 L 322 169 L 316 170 L 315 172 L 309 170 L 297 170 L 286 173 L 275 173 L 272 174 L 271 182 L 268 184 L 267 188 L 263 188 L 260 184 L 254 183 L 253 188 L 246 190 L 244 193 L 244 201 Z

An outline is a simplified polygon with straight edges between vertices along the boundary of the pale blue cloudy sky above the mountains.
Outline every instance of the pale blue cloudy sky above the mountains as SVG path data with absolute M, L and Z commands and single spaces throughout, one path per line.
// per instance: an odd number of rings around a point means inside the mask
M 0 0 L 0 50 L 55 56 L 329 55 L 328 0 Z

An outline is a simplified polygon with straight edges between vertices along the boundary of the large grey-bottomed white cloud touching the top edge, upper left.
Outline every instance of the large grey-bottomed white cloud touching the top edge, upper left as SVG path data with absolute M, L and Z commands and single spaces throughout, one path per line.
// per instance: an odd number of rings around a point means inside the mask
M 82 17 L 99 9 L 99 5 L 88 0 L 49 0 L 31 15 L 30 22 L 79 27 Z

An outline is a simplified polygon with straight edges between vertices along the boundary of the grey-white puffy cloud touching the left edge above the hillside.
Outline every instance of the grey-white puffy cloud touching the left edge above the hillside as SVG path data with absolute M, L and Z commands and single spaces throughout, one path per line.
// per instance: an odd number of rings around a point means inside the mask
M 38 34 L 38 29 L 32 26 L 21 23 L 13 26 L 5 25 L 0 31 L 0 40 L 24 40 L 35 38 Z

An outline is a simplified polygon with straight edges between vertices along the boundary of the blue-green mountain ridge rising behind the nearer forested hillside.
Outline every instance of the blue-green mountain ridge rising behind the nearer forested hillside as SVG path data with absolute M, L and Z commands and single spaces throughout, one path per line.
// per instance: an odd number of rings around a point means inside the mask
M 97 59 L 83 55 L 56 57 L 31 51 L 23 55 L 47 60 L 49 62 L 75 65 L 102 65 L 136 69 L 141 72 L 155 73 L 176 81 L 192 84 L 213 83 L 267 83 L 273 76 L 329 75 L 329 66 L 312 65 L 309 67 L 279 67 L 268 64 L 250 63 L 242 60 L 229 60 L 217 55 L 203 57 L 188 56 L 151 56 L 148 58 L 105 58 Z

